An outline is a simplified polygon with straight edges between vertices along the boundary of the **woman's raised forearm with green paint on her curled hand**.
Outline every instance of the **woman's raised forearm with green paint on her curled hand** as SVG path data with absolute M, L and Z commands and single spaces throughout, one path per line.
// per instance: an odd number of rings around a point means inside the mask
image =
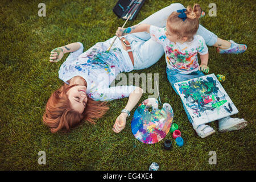
M 66 46 L 57 47 L 51 51 L 51 56 L 49 57 L 50 62 L 57 62 L 61 60 L 64 53 L 74 52 L 80 48 L 80 44 L 78 42 L 68 44 Z

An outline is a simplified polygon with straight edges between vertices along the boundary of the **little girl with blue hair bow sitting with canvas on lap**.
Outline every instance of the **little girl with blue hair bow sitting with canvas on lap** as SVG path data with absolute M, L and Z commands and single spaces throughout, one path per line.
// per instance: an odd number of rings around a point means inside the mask
M 124 36 L 145 31 L 150 34 L 152 40 L 161 44 L 166 53 L 167 77 L 172 88 L 177 93 L 174 87 L 176 82 L 204 76 L 203 72 L 209 72 L 209 67 L 207 66 L 209 57 L 207 45 L 202 36 L 196 35 L 199 29 L 201 12 L 200 5 L 195 4 L 193 9 L 188 6 L 187 9 L 174 11 L 168 17 L 166 27 L 164 28 L 155 27 L 150 24 L 137 24 L 129 28 L 118 27 L 116 35 Z M 233 53 L 242 53 L 247 48 L 245 44 L 237 44 L 233 41 L 230 41 L 230 43 L 230 48 L 220 53 L 225 53 L 225 51 L 230 53 L 232 50 Z M 200 65 L 197 53 L 200 54 Z M 184 104 L 183 107 L 197 135 L 205 138 L 215 133 L 215 130 L 209 125 L 195 125 Z M 218 121 L 220 132 L 240 130 L 247 125 L 247 121 L 240 118 L 225 117 Z

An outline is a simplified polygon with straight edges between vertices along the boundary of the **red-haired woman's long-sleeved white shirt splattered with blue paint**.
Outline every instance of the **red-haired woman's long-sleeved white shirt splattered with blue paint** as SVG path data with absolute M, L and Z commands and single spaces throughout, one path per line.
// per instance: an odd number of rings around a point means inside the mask
M 110 101 L 129 97 L 136 86 L 109 85 L 121 72 L 133 70 L 128 53 L 122 49 L 121 42 L 116 40 L 109 52 L 112 39 L 96 43 L 83 53 L 83 45 L 69 54 L 59 69 L 59 78 L 66 84 L 75 76 L 83 77 L 87 82 L 87 95 L 96 101 Z

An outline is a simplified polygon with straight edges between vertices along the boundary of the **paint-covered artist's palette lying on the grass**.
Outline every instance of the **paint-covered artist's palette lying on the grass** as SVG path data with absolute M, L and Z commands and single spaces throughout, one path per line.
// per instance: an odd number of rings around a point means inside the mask
M 174 111 L 168 103 L 158 109 L 158 100 L 148 98 L 135 110 L 131 120 L 131 131 L 143 143 L 153 144 L 162 140 L 172 125 Z

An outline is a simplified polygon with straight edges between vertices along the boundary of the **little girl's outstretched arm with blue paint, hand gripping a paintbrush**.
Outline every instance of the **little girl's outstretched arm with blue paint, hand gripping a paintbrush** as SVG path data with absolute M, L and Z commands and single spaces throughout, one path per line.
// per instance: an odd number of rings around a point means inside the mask
M 150 24 L 135 24 L 132 27 L 128 28 L 121 28 L 118 27 L 117 31 L 115 32 L 115 35 L 119 36 L 124 36 L 127 34 L 133 34 L 136 32 L 148 32 L 150 31 Z

